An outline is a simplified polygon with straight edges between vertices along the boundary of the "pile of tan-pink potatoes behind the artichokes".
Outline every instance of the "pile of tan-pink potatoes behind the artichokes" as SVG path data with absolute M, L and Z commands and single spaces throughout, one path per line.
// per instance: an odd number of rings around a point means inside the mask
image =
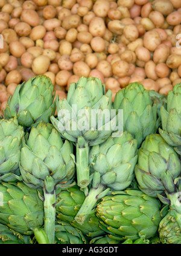
M 51 78 L 60 98 L 81 76 L 115 93 L 181 82 L 180 0 L 1 0 L 0 114 L 17 84 Z

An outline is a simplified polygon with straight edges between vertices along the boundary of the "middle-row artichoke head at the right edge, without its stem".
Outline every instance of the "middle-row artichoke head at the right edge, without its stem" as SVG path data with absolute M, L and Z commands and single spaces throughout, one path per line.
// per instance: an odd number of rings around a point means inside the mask
M 152 197 L 164 194 L 162 175 L 168 170 L 174 178 L 179 177 L 181 173 L 179 156 L 162 136 L 148 135 L 138 150 L 138 163 L 135 166 L 139 189 Z

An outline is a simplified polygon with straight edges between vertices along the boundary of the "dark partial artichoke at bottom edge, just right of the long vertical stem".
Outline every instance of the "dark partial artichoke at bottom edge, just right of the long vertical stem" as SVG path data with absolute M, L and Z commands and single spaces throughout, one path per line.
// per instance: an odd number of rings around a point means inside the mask
M 86 244 L 87 241 L 81 231 L 72 227 L 71 224 L 59 220 L 56 223 L 55 243 Z

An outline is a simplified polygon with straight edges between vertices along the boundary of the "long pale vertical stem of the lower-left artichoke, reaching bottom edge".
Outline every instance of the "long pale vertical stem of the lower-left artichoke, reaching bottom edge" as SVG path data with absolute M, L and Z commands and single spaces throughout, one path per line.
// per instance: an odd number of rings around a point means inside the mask
M 48 237 L 49 244 L 54 243 L 55 221 L 56 221 L 56 190 L 54 189 L 54 180 L 52 177 L 45 178 L 44 194 L 44 231 Z

